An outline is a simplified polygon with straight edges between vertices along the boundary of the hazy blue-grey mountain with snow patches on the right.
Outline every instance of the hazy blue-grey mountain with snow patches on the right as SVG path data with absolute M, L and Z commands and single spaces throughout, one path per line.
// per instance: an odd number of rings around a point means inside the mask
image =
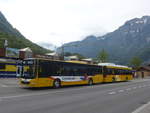
M 109 54 L 109 60 L 120 64 L 127 64 L 134 56 L 139 56 L 143 61 L 150 58 L 141 57 L 143 50 L 150 48 L 150 16 L 134 18 L 125 22 L 113 32 L 104 36 L 87 36 L 82 41 L 65 44 L 77 45 L 67 47 L 65 52 L 79 53 L 86 57 L 96 57 L 105 49 Z

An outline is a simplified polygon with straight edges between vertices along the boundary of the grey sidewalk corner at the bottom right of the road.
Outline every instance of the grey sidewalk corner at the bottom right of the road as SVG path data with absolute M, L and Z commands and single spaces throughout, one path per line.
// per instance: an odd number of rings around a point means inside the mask
M 150 113 L 150 102 L 138 108 L 132 113 Z

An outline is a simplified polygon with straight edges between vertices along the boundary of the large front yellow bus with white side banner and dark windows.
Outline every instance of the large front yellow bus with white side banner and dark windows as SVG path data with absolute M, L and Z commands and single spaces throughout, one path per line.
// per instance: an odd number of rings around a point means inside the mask
M 20 84 L 27 87 L 55 87 L 103 82 L 102 66 L 30 58 L 19 66 Z

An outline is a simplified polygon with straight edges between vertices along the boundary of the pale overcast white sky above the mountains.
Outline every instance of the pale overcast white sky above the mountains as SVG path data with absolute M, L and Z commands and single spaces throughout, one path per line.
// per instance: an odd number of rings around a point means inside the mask
M 55 45 L 111 32 L 150 15 L 150 0 L 0 0 L 7 20 L 33 42 Z

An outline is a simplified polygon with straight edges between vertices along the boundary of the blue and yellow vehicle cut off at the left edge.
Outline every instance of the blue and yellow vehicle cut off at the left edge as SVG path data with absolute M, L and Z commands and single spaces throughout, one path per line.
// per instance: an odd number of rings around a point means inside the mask
M 0 78 L 14 78 L 17 71 L 16 58 L 0 57 Z

